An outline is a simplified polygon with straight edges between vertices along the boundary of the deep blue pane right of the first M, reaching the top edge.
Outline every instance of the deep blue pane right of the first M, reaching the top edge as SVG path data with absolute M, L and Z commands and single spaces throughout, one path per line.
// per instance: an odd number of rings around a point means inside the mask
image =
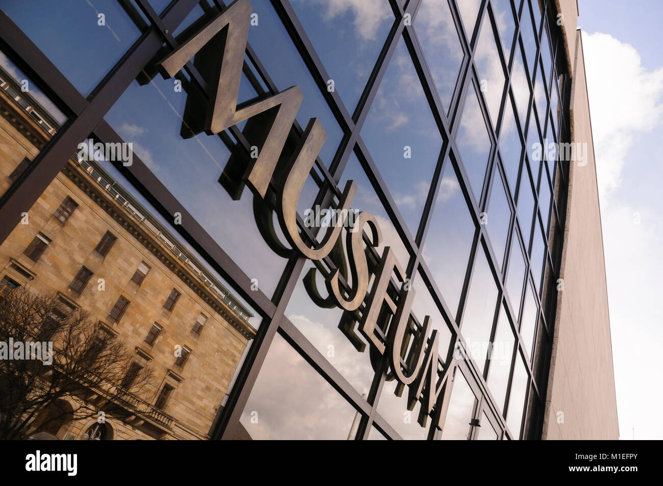
M 269 0 L 251 0 L 253 13 L 258 14 L 259 27 L 249 28 L 249 44 L 255 50 L 263 67 L 276 84 L 277 90 L 290 86 L 299 86 L 304 100 L 297 112 L 297 121 L 302 128 L 311 118 L 320 119 L 327 133 L 327 140 L 322 146 L 320 157 L 326 165 L 331 164 L 343 131 L 331 113 L 320 88 L 314 82 L 302 56 L 296 50 L 290 35 L 276 15 Z

